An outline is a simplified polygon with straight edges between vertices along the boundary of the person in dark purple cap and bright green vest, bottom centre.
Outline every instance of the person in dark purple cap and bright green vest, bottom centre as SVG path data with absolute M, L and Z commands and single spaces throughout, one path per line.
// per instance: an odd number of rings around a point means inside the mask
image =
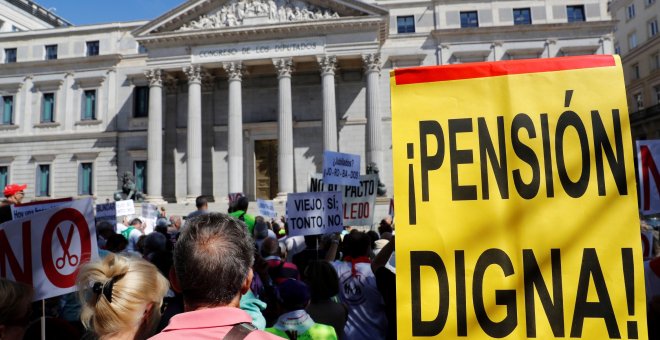
M 266 332 L 291 340 L 336 340 L 337 333 L 332 326 L 314 322 L 305 307 L 311 293 L 302 281 L 287 279 L 277 286 L 278 306 L 282 314 Z

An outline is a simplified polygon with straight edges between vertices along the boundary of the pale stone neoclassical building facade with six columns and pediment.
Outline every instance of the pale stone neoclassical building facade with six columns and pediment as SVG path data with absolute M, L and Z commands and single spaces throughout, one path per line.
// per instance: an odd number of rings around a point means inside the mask
M 0 182 L 104 201 L 129 172 L 153 202 L 272 199 L 333 150 L 391 195 L 391 70 L 608 54 L 613 27 L 602 0 L 189 0 L 0 33 Z

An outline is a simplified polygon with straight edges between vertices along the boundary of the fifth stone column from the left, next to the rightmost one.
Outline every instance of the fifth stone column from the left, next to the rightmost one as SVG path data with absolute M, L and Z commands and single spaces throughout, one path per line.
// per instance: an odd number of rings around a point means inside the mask
M 325 56 L 318 60 L 323 83 L 323 150 L 337 151 L 337 107 L 335 103 L 335 70 L 337 58 Z

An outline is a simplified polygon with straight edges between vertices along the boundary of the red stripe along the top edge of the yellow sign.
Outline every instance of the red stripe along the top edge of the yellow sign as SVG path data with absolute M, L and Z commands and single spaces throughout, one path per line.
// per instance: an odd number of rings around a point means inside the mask
M 609 67 L 614 65 L 616 63 L 614 57 L 611 55 L 593 55 L 414 67 L 394 70 L 394 77 L 397 85 L 409 85 L 436 81 L 497 77 L 511 74 Z

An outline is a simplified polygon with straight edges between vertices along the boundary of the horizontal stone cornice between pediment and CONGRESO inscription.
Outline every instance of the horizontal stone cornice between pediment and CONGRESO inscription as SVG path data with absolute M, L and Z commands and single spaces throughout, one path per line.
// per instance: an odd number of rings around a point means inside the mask
M 211 30 L 154 33 L 136 37 L 136 40 L 145 46 L 166 46 L 171 43 L 222 43 L 241 41 L 264 40 L 274 37 L 293 37 L 298 35 L 309 36 L 328 34 L 329 31 L 364 31 L 366 28 L 379 30 L 381 44 L 388 36 L 387 17 L 349 17 L 324 21 L 303 21 L 286 24 L 272 24 L 263 26 L 236 26 Z M 297 34 L 297 35 L 296 35 Z

